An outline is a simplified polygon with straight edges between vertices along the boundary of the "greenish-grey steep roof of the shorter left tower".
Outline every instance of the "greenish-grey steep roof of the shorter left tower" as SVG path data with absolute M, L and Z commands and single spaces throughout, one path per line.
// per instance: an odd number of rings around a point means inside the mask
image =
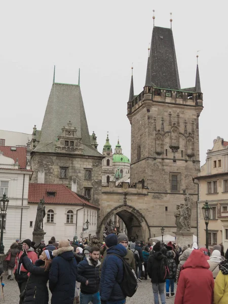
M 77 136 L 82 138 L 85 155 L 101 156 L 92 147 L 86 120 L 82 93 L 79 85 L 53 83 L 45 116 L 41 128 L 39 144 L 34 151 L 54 152 L 58 135 L 63 126 L 71 122 L 77 129 Z

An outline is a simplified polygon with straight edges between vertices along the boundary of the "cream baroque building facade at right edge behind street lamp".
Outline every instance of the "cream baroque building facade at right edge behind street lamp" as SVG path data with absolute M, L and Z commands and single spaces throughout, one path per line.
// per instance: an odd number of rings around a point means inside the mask
M 199 176 L 199 245 L 205 247 L 206 232 L 202 207 L 205 202 L 212 208 L 208 224 L 208 243 L 222 244 L 228 248 L 228 141 L 217 137 L 212 149 L 207 151 L 206 163 L 201 167 Z

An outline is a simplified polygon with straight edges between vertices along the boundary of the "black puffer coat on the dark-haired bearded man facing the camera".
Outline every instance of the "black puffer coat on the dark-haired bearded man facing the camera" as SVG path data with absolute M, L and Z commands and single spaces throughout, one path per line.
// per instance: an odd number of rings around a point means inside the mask
M 98 260 L 96 267 L 91 263 L 89 257 L 85 257 L 83 261 L 78 264 L 77 281 L 81 283 L 82 293 L 96 293 L 99 291 L 100 276 L 99 268 L 101 262 Z M 86 285 L 86 281 L 89 284 Z

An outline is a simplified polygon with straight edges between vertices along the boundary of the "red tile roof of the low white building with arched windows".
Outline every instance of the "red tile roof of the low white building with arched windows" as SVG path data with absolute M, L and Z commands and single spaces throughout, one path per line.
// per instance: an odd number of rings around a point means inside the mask
M 48 196 L 48 192 L 55 192 L 55 196 Z M 28 203 L 39 203 L 43 197 L 45 204 L 88 205 L 99 209 L 94 204 L 80 198 L 63 184 L 29 183 Z

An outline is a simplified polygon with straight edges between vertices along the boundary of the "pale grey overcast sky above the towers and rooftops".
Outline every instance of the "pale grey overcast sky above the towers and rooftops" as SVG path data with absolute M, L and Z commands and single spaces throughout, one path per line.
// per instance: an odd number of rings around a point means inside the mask
M 144 86 L 147 48 L 155 24 L 172 29 L 181 88 L 195 86 L 199 52 L 204 109 L 200 116 L 201 165 L 217 136 L 228 140 L 227 10 L 225 1 L 4 1 L 0 4 L 0 129 L 31 133 L 40 129 L 53 81 L 77 84 L 90 134 L 102 151 L 106 131 L 118 136 L 130 158 L 126 116 L 134 66 L 134 90 Z

